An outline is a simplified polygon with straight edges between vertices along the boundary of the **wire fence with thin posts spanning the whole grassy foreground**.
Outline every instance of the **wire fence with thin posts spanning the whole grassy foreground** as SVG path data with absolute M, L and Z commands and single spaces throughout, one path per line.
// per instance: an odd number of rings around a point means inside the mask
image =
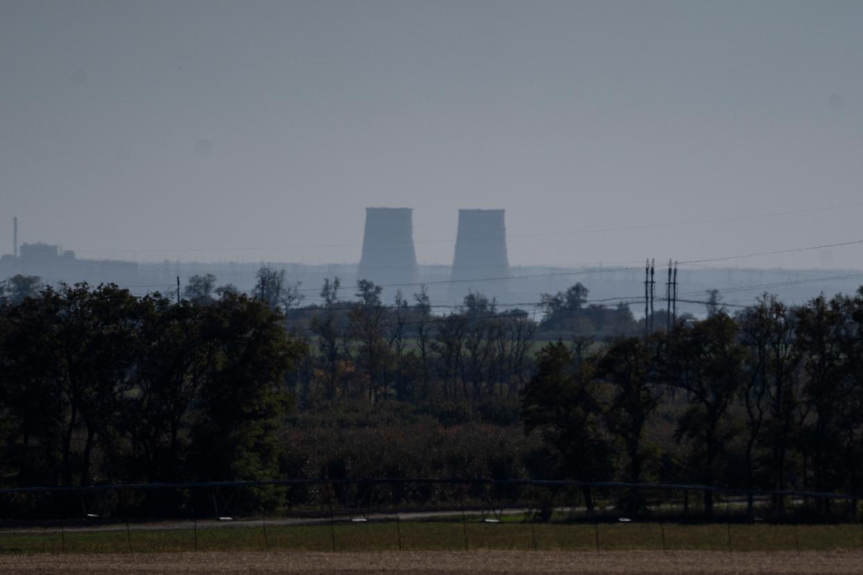
M 0 490 L 0 553 L 863 548 L 858 498 L 702 485 L 294 479 Z

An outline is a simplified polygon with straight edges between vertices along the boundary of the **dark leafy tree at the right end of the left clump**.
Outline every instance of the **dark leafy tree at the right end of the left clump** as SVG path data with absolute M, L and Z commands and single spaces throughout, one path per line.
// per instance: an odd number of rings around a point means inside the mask
M 198 480 L 275 478 L 292 398 L 284 378 L 304 350 L 288 339 L 284 317 L 266 302 L 228 296 L 200 310 L 212 354 L 192 428 Z

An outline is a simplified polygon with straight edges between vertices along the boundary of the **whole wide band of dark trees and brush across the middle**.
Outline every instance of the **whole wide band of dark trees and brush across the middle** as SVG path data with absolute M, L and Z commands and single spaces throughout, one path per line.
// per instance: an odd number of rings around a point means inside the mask
M 863 288 L 665 317 L 581 284 L 536 321 L 472 293 L 321 303 L 262 267 L 250 294 L 0 284 L 0 484 L 576 478 L 860 491 Z M 639 335 L 636 335 L 639 334 Z M 705 501 L 708 509 L 711 502 Z

